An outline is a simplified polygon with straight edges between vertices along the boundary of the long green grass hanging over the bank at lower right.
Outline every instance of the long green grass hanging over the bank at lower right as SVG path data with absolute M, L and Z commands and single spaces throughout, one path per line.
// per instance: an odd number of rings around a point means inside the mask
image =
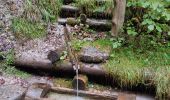
M 170 92 L 170 48 L 137 53 L 130 48 L 114 49 L 106 70 L 120 87 L 155 85 L 158 97 Z M 148 81 L 150 82 L 148 83 Z

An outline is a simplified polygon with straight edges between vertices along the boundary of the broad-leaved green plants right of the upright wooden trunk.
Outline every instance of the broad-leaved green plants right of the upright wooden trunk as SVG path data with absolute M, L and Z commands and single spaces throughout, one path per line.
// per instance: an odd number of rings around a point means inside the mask
M 169 4 L 169 0 L 128 0 L 124 25 L 127 44 L 142 51 L 168 44 Z

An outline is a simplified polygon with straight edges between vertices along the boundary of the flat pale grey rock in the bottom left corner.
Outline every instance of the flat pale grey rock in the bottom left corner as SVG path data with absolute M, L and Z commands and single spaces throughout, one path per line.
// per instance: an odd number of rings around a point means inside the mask
M 19 85 L 1 85 L 0 100 L 24 100 L 26 88 Z

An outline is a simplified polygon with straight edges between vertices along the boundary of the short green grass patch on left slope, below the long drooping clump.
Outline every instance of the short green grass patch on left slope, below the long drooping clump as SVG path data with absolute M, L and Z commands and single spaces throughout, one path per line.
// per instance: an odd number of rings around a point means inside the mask
M 17 38 L 40 38 L 45 36 L 46 28 L 42 23 L 33 23 L 24 18 L 15 18 L 12 23 Z

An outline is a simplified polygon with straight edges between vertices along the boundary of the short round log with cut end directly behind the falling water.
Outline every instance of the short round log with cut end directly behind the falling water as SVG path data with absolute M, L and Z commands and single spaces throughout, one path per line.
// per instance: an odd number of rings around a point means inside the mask
M 86 75 L 79 74 L 76 75 L 72 81 L 72 86 L 76 90 L 77 89 L 77 80 L 78 80 L 78 89 L 86 90 L 88 86 L 88 78 Z

